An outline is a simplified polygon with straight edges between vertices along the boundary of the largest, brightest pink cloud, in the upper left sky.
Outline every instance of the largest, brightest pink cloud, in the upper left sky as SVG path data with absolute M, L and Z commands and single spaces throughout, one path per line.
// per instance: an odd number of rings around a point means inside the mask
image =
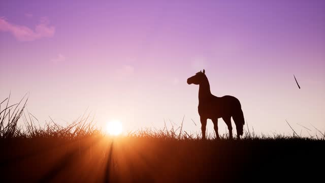
M 10 23 L 4 17 L 0 17 L 0 31 L 10 32 L 18 41 L 32 41 L 44 37 L 53 37 L 55 27 L 49 26 L 49 20 L 46 17 L 41 18 L 40 23 L 35 27 L 35 31 L 24 25 Z

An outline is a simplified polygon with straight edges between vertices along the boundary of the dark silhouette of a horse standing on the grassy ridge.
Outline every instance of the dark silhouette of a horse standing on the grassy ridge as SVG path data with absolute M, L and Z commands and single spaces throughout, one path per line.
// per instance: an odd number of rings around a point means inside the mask
M 211 119 L 214 125 L 216 138 L 220 139 L 218 134 L 218 118 L 222 117 L 225 124 L 228 126 L 229 138 L 233 138 L 233 127 L 231 117 L 236 125 L 237 139 L 243 135 L 243 126 L 245 124 L 244 114 L 241 109 L 241 104 L 236 97 L 223 96 L 216 97 L 210 92 L 210 84 L 205 70 L 198 72 L 196 75 L 187 79 L 187 84 L 199 84 L 199 114 L 201 120 L 202 138 L 206 138 L 207 119 Z

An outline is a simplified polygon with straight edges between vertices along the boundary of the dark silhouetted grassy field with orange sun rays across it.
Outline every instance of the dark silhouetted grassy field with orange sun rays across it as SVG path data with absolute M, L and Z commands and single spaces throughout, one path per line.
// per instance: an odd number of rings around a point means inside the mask
M 263 182 L 323 176 L 323 136 L 245 131 L 240 141 L 226 136 L 217 141 L 165 128 L 114 138 L 95 130 L 87 116 L 67 127 L 54 121 L 40 127 L 24 107 L 10 115 L 3 109 L 1 182 Z M 24 128 L 17 126 L 20 117 Z

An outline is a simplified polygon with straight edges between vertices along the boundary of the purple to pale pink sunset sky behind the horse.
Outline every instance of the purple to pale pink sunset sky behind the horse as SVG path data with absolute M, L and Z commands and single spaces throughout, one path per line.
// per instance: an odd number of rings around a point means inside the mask
M 257 133 L 291 133 L 285 119 L 298 132 L 297 123 L 325 130 L 324 10 L 325 1 L 1 1 L 0 99 L 30 92 L 40 123 L 88 107 L 99 126 L 160 128 L 185 115 L 185 130 L 199 131 L 199 88 L 186 79 L 205 69 L 212 94 L 237 97 Z

